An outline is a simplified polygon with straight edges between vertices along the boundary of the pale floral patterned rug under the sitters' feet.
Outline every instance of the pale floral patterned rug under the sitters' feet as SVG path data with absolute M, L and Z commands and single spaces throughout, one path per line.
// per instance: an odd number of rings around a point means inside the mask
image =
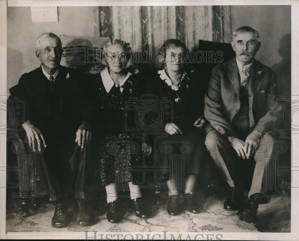
M 129 198 L 121 198 L 122 219 L 119 223 L 109 223 L 106 219 L 106 204 L 99 202 L 95 208 L 94 224 L 80 227 L 71 221 L 66 228 L 53 228 L 51 219 L 55 206 L 48 201 L 39 201 L 39 208 L 30 209 L 32 215 L 24 218 L 19 207 L 19 198 L 7 199 L 6 232 L 290 232 L 291 197 L 274 197 L 270 203 L 260 204 L 258 209 L 258 229 L 238 219 L 236 211 L 223 209 L 225 195 L 197 197 L 202 211 L 191 214 L 183 208 L 178 216 L 167 214 L 166 198 L 161 205 L 152 205 L 152 217 L 141 219 L 135 216 Z M 72 210 L 71 210 L 72 211 Z

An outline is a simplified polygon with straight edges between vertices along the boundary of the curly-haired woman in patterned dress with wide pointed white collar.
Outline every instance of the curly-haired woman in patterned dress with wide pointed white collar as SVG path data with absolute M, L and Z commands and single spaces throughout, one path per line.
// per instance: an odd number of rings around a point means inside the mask
M 123 53 L 128 51 L 129 43 L 112 40 L 104 48 L 107 67 L 96 75 L 95 90 L 99 116 L 97 125 L 100 128 L 100 177 L 107 192 L 107 219 L 118 222 L 119 204 L 117 185 L 129 186 L 131 199 L 135 204 L 135 214 L 147 218 L 150 214 L 142 205 L 138 185 L 138 173 L 131 171 L 131 166 L 139 166 L 142 157 L 140 142 L 126 131 L 132 117 L 125 116 L 125 102 L 130 96 L 141 93 L 141 79 L 138 71 L 126 68 L 127 61 Z M 142 143 L 145 155 L 151 151 L 150 145 Z M 120 186 L 123 187 L 123 186 Z

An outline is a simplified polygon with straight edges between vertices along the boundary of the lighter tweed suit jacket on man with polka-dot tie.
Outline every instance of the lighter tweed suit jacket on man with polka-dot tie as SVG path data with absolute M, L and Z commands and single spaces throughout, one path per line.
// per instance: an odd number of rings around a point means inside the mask
M 231 122 L 240 109 L 240 75 L 236 57 L 212 69 L 205 95 L 205 118 L 210 122 L 206 131 L 237 136 Z M 254 59 L 249 78 L 249 131 L 273 133 L 273 102 L 277 80 L 272 69 Z

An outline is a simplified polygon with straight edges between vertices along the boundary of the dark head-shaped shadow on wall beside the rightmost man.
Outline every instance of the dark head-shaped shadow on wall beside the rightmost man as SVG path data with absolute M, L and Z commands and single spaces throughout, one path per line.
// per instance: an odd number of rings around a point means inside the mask
M 275 63 L 272 69 L 277 74 L 279 96 L 288 100 L 291 95 L 291 34 L 280 39 L 278 53 L 283 59 Z

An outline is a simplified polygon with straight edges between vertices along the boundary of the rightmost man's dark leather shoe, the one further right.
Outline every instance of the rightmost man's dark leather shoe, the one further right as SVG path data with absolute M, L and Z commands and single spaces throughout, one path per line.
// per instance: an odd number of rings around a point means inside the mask
M 248 222 L 254 226 L 257 225 L 257 209 L 259 207 L 259 201 L 251 195 L 248 200 L 239 208 L 237 216 L 240 220 Z

